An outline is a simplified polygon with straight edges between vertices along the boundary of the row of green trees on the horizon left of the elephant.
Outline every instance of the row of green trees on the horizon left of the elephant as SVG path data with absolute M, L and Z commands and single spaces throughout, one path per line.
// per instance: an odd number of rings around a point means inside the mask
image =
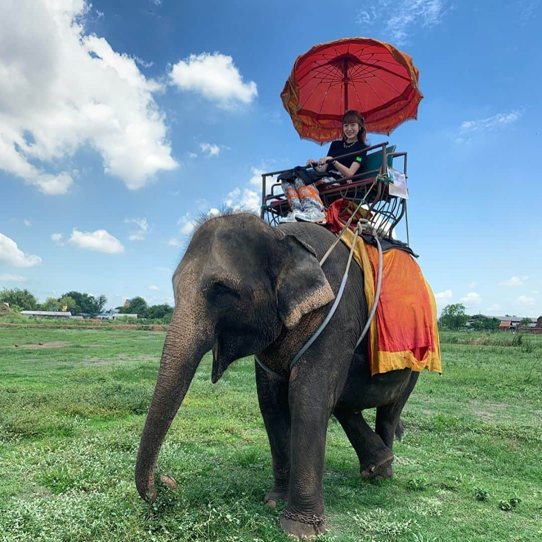
M 69 311 L 73 315 L 96 315 L 104 311 L 107 303 L 105 295 L 91 295 L 81 292 L 66 292 L 58 298 L 47 298 L 43 303 L 27 289 L 3 288 L 0 292 L 0 303 L 8 303 L 16 311 Z M 140 296 L 131 300 L 129 307 L 117 307 L 120 313 L 137 314 L 138 318 L 164 318 L 173 314 L 173 307 L 166 303 L 147 305 Z

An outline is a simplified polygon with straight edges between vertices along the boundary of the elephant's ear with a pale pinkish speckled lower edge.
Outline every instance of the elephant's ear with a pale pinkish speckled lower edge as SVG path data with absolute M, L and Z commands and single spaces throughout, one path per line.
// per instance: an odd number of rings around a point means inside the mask
M 275 288 L 280 318 L 291 330 L 302 316 L 327 305 L 335 295 L 311 246 L 294 235 L 283 235 L 279 242 Z

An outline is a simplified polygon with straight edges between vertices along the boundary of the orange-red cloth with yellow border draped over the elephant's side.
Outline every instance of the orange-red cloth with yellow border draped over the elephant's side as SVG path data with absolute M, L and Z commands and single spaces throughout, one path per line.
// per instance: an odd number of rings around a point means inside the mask
M 341 241 L 351 247 L 354 234 L 346 229 Z M 378 250 L 358 237 L 354 259 L 364 271 L 369 311 L 375 301 Z M 382 286 L 375 318 L 369 327 L 371 373 L 405 369 L 442 374 L 435 296 L 420 266 L 404 250 L 383 253 Z

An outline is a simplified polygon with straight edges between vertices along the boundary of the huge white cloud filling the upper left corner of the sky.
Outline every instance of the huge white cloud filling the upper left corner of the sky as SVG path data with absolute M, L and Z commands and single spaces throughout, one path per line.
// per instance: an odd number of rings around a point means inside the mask
M 130 189 L 177 167 L 153 98 L 163 85 L 105 38 L 85 35 L 89 9 L 84 0 L 20 0 L 0 18 L 0 169 L 49 195 L 68 190 L 66 163 L 85 145 Z

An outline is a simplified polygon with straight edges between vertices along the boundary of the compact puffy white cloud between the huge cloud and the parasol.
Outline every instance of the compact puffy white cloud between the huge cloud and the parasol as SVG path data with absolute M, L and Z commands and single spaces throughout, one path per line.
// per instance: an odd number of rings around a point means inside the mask
M 170 79 L 182 91 L 192 91 L 224 107 L 249 104 L 258 95 L 256 83 L 243 82 L 231 56 L 201 53 L 179 60 Z

